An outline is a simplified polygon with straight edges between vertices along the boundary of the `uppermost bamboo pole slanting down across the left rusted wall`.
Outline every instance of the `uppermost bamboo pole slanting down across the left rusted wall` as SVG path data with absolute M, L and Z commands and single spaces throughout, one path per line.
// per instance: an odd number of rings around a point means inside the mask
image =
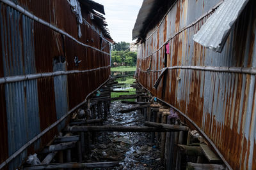
M 24 15 L 26 15 L 27 17 L 29 17 L 29 18 L 35 20 L 36 22 L 39 22 L 40 24 L 43 24 L 43 25 L 45 25 L 45 26 L 47 26 L 47 27 L 50 27 L 50 28 L 53 29 L 54 31 L 59 32 L 60 34 L 63 34 L 63 35 L 67 36 L 67 37 L 70 38 L 70 39 L 73 39 L 74 41 L 76 41 L 76 42 L 79 43 L 80 45 L 83 45 L 83 46 L 92 48 L 92 49 L 97 50 L 97 51 L 102 52 L 102 53 L 106 53 L 106 52 L 104 52 L 104 51 L 102 51 L 102 50 L 99 50 L 98 48 L 95 48 L 95 47 L 90 46 L 90 45 L 86 45 L 86 44 L 84 44 L 84 43 L 78 41 L 76 38 L 72 37 L 72 36 L 71 36 L 70 34 L 68 34 L 67 32 L 62 31 L 61 29 L 55 27 L 54 25 L 50 24 L 49 22 L 45 22 L 45 21 L 42 20 L 41 18 L 36 17 L 36 16 L 33 15 L 32 13 L 29 13 L 29 11 L 26 11 L 24 8 L 22 8 L 21 6 L 19 6 L 19 5 L 15 4 L 15 3 L 13 3 L 12 1 L 9 1 L 9 0 L 0 0 L 0 1 L 2 1 L 2 2 L 5 3 L 5 4 L 7 4 L 8 6 L 11 6 L 11 7 L 14 8 L 15 10 L 20 11 L 20 13 L 23 13 Z M 98 33 L 98 32 L 97 32 L 97 33 Z M 107 41 L 107 40 L 105 40 L 105 41 Z M 106 53 L 106 54 L 109 55 L 109 53 Z

